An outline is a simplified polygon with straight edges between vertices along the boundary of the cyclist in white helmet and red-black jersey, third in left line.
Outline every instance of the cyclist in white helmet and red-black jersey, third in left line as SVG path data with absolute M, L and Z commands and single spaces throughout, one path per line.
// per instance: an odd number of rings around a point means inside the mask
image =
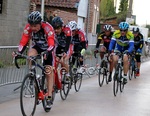
M 77 27 L 76 21 L 70 21 L 68 23 L 68 26 L 72 30 L 72 41 L 71 44 L 73 44 L 73 56 L 80 57 L 80 65 L 83 65 L 83 55 L 85 54 L 86 50 L 86 37 L 85 32 Z M 79 52 L 79 54 L 78 54 Z M 73 64 L 75 63 L 75 58 L 72 59 Z

